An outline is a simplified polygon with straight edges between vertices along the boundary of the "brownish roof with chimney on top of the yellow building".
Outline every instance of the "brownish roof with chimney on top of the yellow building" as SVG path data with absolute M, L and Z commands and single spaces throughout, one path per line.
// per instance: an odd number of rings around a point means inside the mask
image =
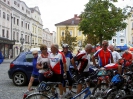
M 63 21 L 63 22 L 60 22 L 60 23 L 57 23 L 57 24 L 55 24 L 55 26 L 58 26 L 58 25 L 78 25 L 79 22 L 80 22 L 80 17 L 77 16 L 77 14 L 75 14 L 73 18 L 68 19 L 66 21 Z

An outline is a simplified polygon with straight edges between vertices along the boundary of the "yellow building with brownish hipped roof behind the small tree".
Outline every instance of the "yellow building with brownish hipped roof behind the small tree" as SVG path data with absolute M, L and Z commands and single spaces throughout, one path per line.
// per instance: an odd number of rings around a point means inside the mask
M 79 16 L 77 16 L 77 14 L 75 14 L 73 18 L 55 24 L 57 28 L 56 43 L 59 44 L 60 49 L 62 49 L 60 45 L 61 37 L 65 36 L 66 26 L 68 27 L 68 31 L 70 32 L 72 37 L 77 36 L 77 46 L 75 47 L 75 50 L 73 51 L 73 53 L 76 54 L 77 50 L 83 49 L 82 42 L 84 41 L 85 36 L 82 34 L 82 31 L 79 31 L 79 26 L 78 26 L 79 22 L 80 22 L 80 18 Z

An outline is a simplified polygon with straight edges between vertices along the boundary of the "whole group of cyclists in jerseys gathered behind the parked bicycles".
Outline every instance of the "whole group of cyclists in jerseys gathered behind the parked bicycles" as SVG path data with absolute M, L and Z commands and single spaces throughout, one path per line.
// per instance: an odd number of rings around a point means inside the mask
M 32 52 L 34 59 L 33 72 L 28 85 L 29 91 L 32 90 L 31 86 L 34 78 L 39 78 L 39 82 L 60 82 L 60 84 L 58 85 L 60 92 L 59 99 L 67 98 L 68 96 L 72 96 L 71 90 L 73 80 L 71 72 L 69 70 L 70 65 L 72 65 L 77 72 L 78 81 L 80 78 L 88 77 L 90 75 L 89 67 L 91 65 L 91 59 L 93 65 L 96 66 L 96 68 L 106 68 L 106 66 L 109 65 L 107 66 L 107 68 L 117 69 L 119 75 L 122 74 L 122 59 L 124 59 L 124 64 L 126 64 L 126 61 L 128 61 L 129 64 L 131 64 L 132 62 L 132 54 L 129 51 L 125 51 L 125 53 L 121 57 L 120 54 L 115 51 L 113 45 L 108 45 L 107 40 L 104 40 L 102 42 L 102 48 L 97 50 L 92 56 L 91 53 L 93 46 L 91 44 L 86 44 L 84 50 L 80 51 L 76 56 L 73 56 L 71 51 L 69 51 L 68 44 L 63 44 L 62 48 L 62 51 L 59 51 L 58 44 L 52 44 L 51 52 L 48 53 L 47 46 L 41 45 L 41 55 L 38 55 L 38 51 Z M 98 59 L 98 63 L 95 61 L 96 58 Z M 78 64 L 76 64 L 77 62 Z M 69 82 L 69 91 L 67 92 L 65 83 L 66 79 Z M 107 82 L 109 81 L 107 80 Z M 78 83 L 77 93 L 81 92 L 82 85 L 82 83 Z M 88 85 L 90 85 L 89 82 Z

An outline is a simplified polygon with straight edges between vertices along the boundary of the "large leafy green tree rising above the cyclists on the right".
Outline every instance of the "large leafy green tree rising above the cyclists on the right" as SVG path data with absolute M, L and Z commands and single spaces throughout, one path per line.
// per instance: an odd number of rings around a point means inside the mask
M 80 15 L 79 30 L 85 35 L 95 34 L 101 45 L 103 39 L 111 40 L 117 31 L 126 28 L 125 20 L 130 15 L 128 8 L 117 8 L 109 0 L 89 0 Z

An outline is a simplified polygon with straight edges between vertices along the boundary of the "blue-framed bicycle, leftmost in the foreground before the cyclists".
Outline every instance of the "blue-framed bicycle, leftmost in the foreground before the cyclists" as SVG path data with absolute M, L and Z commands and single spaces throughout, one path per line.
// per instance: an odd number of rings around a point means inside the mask
M 82 83 L 83 80 L 86 83 L 86 88 L 84 88 L 80 93 L 74 95 L 73 97 L 70 97 L 70 99 L 76 99 L 77 97 L 80 97 L 81 95 L 84 95 L 82 99 L 86 99 L 88 96 L 90 96 L 90 99 L 94 99 L 94 97 L 91 94 L 90 87 L 88 86 L 87 82 L 91 80 L 97 73 L 95 73 L 92 76 L 89 76 L 87 78 L 81 78 L 78 80 L 79 83 Z M 59 84 L 59 82 L 41 82 L 39 86 L 36 88 L 36 91 L 27 95 L 24 99 L 58 99 L 58 92 L 55 88 L 56 85 Z M 54 88 L 54 92 L 52 92 L 52 88 Z M 46 92 L 46 93 L 45 93 Z

